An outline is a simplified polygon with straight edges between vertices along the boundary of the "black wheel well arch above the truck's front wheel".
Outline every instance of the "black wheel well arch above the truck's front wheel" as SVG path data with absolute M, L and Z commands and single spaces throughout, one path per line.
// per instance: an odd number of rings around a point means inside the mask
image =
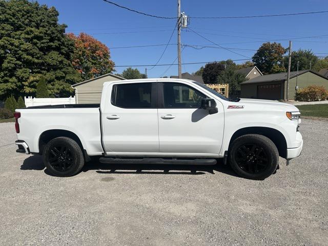
M 285 137 L 278 130 L 269 128 L 269 127 L 246 127 L 246 128 L 239 129 L 232 135 L 232 137 L 230 139 L 230 143 L 229 143 L 229 149 L 230 149 L 231 144 L 237 137 L 240 137 L 240 136 L 243 136 L 246 134 L 259 134 L 259 135 L 268 137 L 271 141 L 273 141 L 273 143 L 277 147 L 279 156 L 286 158 L 287 143 L 286 143 Z

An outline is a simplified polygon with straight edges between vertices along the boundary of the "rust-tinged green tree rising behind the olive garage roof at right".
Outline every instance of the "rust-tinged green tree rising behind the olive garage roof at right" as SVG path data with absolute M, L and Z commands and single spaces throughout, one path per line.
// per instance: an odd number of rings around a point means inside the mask
M 267 42 L 257 50 L 252 61 L 263 74 L 285 72 L 286 70 L 282 66 L 285 53 L 286 49 L 281 44 Z

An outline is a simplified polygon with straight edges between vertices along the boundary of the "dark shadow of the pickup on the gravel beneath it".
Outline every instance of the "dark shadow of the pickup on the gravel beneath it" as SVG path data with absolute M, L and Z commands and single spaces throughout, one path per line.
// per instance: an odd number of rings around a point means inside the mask
M 44 170 L 45 165 L 42 156 L 32 155 L 26 158 L 20 166 L 20 170 Z M 99 174 L 179 174 L 179 175 L 202 175 L 220 172 L 238 177 L 229 166 L 224 166 L 219 160 L 214 166 L 194 166 L 194 165 L 140 165 L 140 164 L 104 164 L 98 158 L 92 158 L 82 169 L 82 172 L 96 170 Z M 44 171 L 50 174 L 47 169 Z

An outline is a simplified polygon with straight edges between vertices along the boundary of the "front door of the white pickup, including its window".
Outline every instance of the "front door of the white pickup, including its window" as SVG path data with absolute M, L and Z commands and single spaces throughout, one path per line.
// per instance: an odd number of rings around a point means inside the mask
M 224 113 L 200 109 L 201 99 L 209 98 L 198 89 L 181 83 L 158 83 L 159 152 L 176 156 L 217 157 L 223 137 Z

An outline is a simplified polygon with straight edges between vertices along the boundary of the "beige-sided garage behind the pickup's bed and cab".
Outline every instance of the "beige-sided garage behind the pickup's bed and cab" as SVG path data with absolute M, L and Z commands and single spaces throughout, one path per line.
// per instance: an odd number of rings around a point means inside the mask
M 120 76 L 108 73 L 96 78 L 72 85 L 75 91 L 76 104 L 99 104 L 103 85 L 107 81 L 124 80 Z

